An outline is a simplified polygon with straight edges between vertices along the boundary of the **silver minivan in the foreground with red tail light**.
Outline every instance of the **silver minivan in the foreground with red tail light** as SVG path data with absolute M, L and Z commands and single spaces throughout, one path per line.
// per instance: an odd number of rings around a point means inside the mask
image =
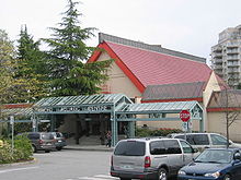
M 185 140 L 145 137 L 119 141 L 112 155 L 111 176 L 120 180 L 176 176 L 199 153 Z

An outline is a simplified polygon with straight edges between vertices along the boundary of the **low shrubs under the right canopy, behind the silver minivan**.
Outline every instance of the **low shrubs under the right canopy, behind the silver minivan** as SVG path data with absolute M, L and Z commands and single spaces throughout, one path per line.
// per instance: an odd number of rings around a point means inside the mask
M 170 133 L 180 133 L 182 130 L 179 129 L 170 129 L 170 128 L 162 128 L 158 130 L 150 130 L 150 129 L 136 129 L 136 136 L 167 136 Z

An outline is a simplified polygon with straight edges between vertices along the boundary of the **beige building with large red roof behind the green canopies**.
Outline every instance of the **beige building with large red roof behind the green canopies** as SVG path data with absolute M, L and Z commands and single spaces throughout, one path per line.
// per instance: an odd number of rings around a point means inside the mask
M 213 109 L 210 112 L 208 106 L 213 105 L 210 100 L 214 100 L 214 92 L 227 89 L 228 86 L 206 64 L 204 58 L 103 33 L 99 34 L 97 48 L 88 63 L 114 59 L 107 72 L 110 80 L 103 84 L 102 93 L 123 93 L 136 103 L 197 100 L 204 108 L 205 130 L 225 132 L 223 125 L 217 125 L 221 124 L 219 118 L 225 118 L 225 110 L 220 115 L 219 109 L 214 118 L 213 112 L 218 110 Z M 138 124 L 181 128 L 181 123 L 176 122 Z M 198 130 L 198 124 L 193 125 L 194 130 Z M 233 139 L 241 132 L 239 129 L 232 131 L 236 133 Z

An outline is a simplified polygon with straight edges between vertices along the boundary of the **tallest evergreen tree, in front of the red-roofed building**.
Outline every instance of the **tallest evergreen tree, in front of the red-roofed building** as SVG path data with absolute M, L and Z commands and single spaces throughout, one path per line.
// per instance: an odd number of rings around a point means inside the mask
M 78 3 L 68 0 L 59 28 L 51 27 L 53 38 L 43 39 L 50 48 L 47 67 L 54 96 L 95 94 L 100 91 L 99 85 L 107 80 L 105 72 L 111 60 L 84 63 L 93 50 L 84 41 L 93 36 L 95 28 L 80 27 Z

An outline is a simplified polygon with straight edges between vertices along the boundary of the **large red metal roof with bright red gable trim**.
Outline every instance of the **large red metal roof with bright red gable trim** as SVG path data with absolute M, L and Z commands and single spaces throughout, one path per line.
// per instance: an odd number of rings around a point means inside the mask
M 112 41 L 103 41 L 99 47 L 116 59 L 141 93 L 148 85 L 207 82 L 211 73 L 207 64 L 180 57 Z M 96 61 L 100 53 L 94 53 L 89 62 Z

